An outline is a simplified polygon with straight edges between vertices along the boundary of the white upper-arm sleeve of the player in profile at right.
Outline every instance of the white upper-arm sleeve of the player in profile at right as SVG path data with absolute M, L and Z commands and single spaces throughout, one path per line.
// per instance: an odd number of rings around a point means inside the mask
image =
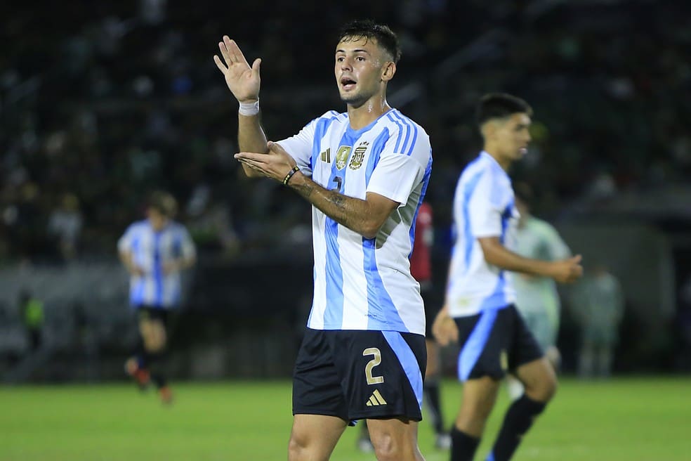
M 501 203 L 499 185 L 493 181 L 492 172 L 485 171 L 468 197 L 470 231 L 475 238 L 501 235 Z

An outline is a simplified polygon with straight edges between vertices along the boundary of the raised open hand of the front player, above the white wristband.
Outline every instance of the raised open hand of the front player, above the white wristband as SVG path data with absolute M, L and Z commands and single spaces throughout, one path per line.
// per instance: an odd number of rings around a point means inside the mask
M 252 67 L 249 67 L 235 40 L 231 40 L 228 35 L 224 35 L 223 41 L 218 42 L 218 48 L 221 49 L 223 60 L 218 55 L 213 55 L 213 62 L 216 63 L 218 70 L 223 72 L 225 84 L 228 85 L 233 96 L 241 103 L 257 100 L 261 59 L 256 58 Z

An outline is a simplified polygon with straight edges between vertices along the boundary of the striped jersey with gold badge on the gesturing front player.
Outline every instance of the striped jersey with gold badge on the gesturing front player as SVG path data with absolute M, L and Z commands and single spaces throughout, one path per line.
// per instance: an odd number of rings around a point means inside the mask
M 358 130 L 347 113 L 331 111 L 279 144 L 324 188 L 400 203 L 374 239 L 312 207 L 315 292 L 308 327 L 423 335 L 425 313 L 409 255 L 432 171 L 428 134 L 395 109 Z

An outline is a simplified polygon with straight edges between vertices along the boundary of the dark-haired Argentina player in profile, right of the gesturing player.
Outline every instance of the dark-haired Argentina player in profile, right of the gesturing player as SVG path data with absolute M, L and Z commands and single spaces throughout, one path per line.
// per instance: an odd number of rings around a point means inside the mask
M 456 242 L 445 306 L 434 321 L 440 344 L 461 344 L 458 373 L 463 399 L 452 429 L 451 460 L 472 460 L 494 407 L 501 380 L 510 371 L 525 393 L 514 401 L 487 460 L 513 455 L 557 387 L 554 370 L 515 309 L 508 271 L 572 282 L 581 257 L 541 261 L 513 252 L 518 211 L 507 171 L 527 151 L 532 109 L 520 98 L 483 96 L 477 117 L 484 150 L 463 170 L 454 197 Z

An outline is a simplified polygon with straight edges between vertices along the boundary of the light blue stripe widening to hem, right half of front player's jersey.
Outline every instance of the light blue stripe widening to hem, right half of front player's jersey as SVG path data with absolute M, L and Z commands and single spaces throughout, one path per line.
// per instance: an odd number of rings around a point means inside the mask
M 367 280 L 367 330 L 407 332 L 393 299 L 386 291 L 376 266 L 376 240 L 362 238 L 364 277 Z

